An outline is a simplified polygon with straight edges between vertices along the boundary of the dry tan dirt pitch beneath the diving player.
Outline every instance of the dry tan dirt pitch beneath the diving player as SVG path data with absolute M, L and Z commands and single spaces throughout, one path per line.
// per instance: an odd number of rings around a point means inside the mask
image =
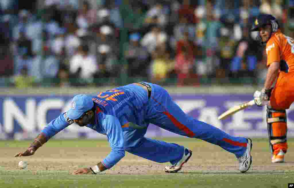
M 184 165 L 181 173 L 239 173 L 238 162 L 233 154 L 230 154 L 222 148 L 209 144 L 204 141 L 195 141 L 194 139 L 167 139 L 167 142 L 174 142 L 184 145 L 193 151 L 193 155 Z M 6 141 L 1 141 L 6 142 Z M 58 143 L 66 142 L 67 144 Z M 1 147 L 0 153 L 0 168 L 2 170 L 17 170 L 18 163 L 25 160 L 29 163 L 27 170 L 37 173 L 40 170 L 65 170 L 70 172 L 76 169 L 89 167 L 103 160 L 111 151 L 108 143 L 103 142 L 102 147 L 97 147 L 95 144 L 88 144 L 87 147 L 76 146 L 79 140 L 74 141 L 58 141 L 46 143 L 39 148 L 33 156 L 30 157 L 14 157 L 18 152 L 24 151 L 25 144 L 7 144 L 6 147 Z M 95 140 L 88 141 L 95 143 Z M 100 141 L 101 142 L 101 141 Z M 253 149 L 251 155 L 253 163 L 248 171 L 249 173 L 273 174 L 292 171 L 294 169 L 294 139 L 290 139 L 289 151 L 285 157 L 285 163 L 271 163 L 271 154 L 266 139 L 253 139 Z M 48 146 L 48 147 L 47 147 Z M 168 174 L 163 171 L 163 168 L 168 163 L 156 163 L 126 153 L 126 156 L 118 162 L 113 168 L 104 171 L 106 174 Z

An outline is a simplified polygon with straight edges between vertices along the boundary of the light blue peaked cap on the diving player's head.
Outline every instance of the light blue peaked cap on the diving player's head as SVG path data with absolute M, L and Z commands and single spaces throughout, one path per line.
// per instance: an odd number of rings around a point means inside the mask
M 67 111 L 67 117 L 70 119 L 78 119 L 83 113 L 91 110 L 93 106 L 92 97 L 84 94 L 76 95 L 72 99 L 71 108 Z

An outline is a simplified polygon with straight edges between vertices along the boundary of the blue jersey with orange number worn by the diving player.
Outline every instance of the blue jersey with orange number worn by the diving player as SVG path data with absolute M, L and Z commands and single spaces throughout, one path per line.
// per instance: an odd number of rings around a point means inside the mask
M 148 126 L 144 121 L 148 110 L 148 95 L 142 87 L 128 84 L 100 92 L 92 97 L 92 101 L 96 108 L 95 123 L 87 124 L 86 127 L 107 136 L 112 151 L 102 163 L 109 169 L 125 155 L 124 137 L 128 137 L 129 140 L 131 132 L 124 132 L 123 129 L 140 129 Z M 74 121 L 64 112 L 41 132 L 48 140 L 72 123 Z

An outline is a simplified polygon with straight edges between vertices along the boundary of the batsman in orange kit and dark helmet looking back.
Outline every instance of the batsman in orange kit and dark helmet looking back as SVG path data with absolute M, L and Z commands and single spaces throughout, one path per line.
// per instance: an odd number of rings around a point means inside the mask
M 277 20 L 270 14 L 258 16 L 251 31 L 259 31 L 257 40 L 266 46 L 268 67 L 263 89 L 254 93 L 255 104 L 267 105 L 272 162 L 285 162 L 288 149 L 286 109 L 294 102 L 294 40 L 281 33 Z

